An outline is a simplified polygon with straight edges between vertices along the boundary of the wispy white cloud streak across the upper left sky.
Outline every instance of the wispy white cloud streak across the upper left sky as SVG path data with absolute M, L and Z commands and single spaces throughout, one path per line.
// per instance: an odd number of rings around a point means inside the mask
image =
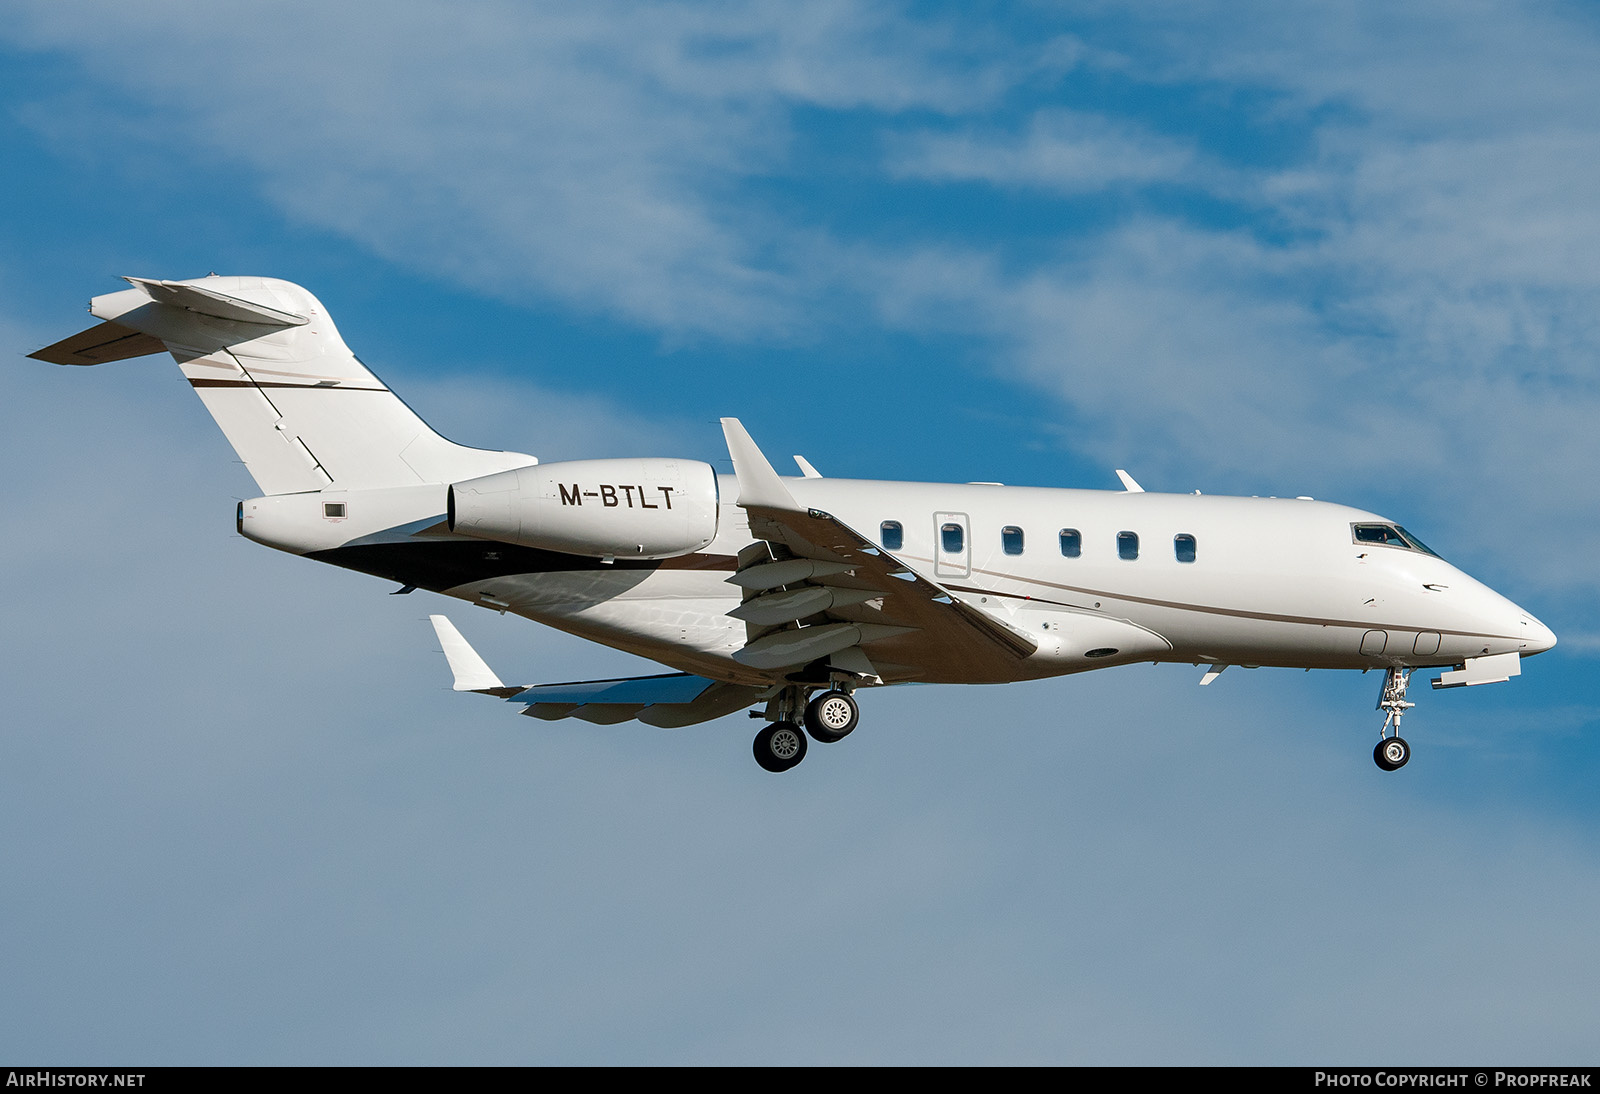
M 194 19 L 34 5 L 11 35 L 134 101 L 94 112 L 186 158 L 245 163 L 293 218 L 502 299 L 666 331 L 795 321 L 790 229 L 736 190 L 778 170 L 789 110 L 954 109 L 992 94 L 938 26 L 894 8 L 301 3 Z M 957 58 L 946 69 L 936 56 Z M 32 117 L 62 126 L 67 101 Z M 85 109 L 85 104 L 78 104 Z M 74 128 L 104 128 L 78 117 Z

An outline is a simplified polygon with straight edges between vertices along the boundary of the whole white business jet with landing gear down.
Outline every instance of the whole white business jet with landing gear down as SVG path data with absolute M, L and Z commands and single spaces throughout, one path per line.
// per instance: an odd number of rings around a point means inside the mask
M 755 760 L 856 728 L 880 685 L 1131 662 L 1379 669 L 1373 752 L 1410 760 L 1413 669 L 1522 672 L 1555 635 L 1376 513 L 1310 497 L 779 477 L 738 419 L 733 475 L 690 459 L 541 464 L 429 429 L 298 285 L 126 278 L 32 357 L 170 352 L 262 491 L 240 534 L 626 649 L 675 672 L 507 686 L 434 616 L 458 691 L 536 718 L 688 726 L 749 707 Z

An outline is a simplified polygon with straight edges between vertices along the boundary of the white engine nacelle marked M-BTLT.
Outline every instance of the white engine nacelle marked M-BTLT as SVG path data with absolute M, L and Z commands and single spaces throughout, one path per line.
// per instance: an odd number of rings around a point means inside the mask
M 672 558 L 717 536 L 717 472 L 691 459 L 534 464 L 450 488 L 450 531 L 590 558 Z

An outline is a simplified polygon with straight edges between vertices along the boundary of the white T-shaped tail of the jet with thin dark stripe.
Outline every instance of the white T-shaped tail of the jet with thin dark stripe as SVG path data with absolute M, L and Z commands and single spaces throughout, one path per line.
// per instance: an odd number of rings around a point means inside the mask
M 30 357 L 59 365 L 171 352 L 262 494 L 453 483 L 534 464 L 445 440 L 339 337 L 315 296 L 264 277 L 123 278 L 101 320 Z

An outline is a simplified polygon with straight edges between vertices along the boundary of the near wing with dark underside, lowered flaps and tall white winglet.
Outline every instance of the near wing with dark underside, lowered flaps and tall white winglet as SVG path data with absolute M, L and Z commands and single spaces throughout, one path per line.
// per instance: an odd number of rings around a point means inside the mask
M 749 625 L 734 661 L 794 670 L 834 669 L 885 683 L 917 678 L 1016 680 L 1035 640 L 952 595 L 832 513 L 795 502 L 738 419 L 723 435 L 739 480 L 739 505 L 766 557 L 730 579 L 746 589 L 733 613 Z

